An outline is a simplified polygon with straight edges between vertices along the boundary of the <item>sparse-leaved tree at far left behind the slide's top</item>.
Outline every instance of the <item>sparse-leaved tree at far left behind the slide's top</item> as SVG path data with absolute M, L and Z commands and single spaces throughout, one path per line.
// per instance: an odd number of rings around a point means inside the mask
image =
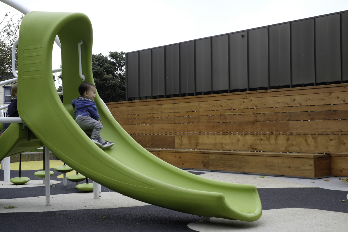
M 17 16 L 16 21 L 14 17 L 17 14 L 10 18 L 8 14 L 5 14 L 0 23 L 0 78 L 14 78 L 12 74 L 12 46 L 18 39 L 18 30 L 23 19 L 23 16 Z

